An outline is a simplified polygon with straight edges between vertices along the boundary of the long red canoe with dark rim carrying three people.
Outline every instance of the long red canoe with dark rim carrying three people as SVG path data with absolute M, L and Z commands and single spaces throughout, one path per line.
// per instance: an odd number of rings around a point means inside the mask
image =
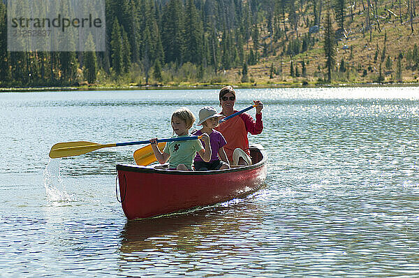
M 122 209 L 128 219 L 156 217 L 247 196 L 267 174 L 261 145 L 250 147 L 253 164 L 212 171 L 160 170 L 117 165 Z

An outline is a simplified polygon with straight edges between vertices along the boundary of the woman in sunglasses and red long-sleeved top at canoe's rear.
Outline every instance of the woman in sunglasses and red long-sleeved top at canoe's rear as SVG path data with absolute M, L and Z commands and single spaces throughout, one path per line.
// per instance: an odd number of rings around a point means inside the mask
M 222 115 L 226 117 L 237 112 L 234 109 L 236 93 L 233 87 L 223 87 L 219 92 L 220 106 L 223 109 Z M 222 122 L 215 129 L 221 132 L 226 138 L 227 145 L 224 146 L 228 160 L 233 165 L 251 164 L 249 152 L 249 139 L 247 133 L 253 135 L 263 131 L 262 109 L 263 103 L 253 101 L 256 104 L 256 121 L 247 113 L 242 113 L 238 117 L 233 117 L 226 122 Z

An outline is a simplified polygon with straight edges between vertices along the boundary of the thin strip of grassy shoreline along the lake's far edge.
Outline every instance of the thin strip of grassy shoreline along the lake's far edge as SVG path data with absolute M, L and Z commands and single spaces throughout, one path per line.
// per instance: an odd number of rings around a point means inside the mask
M 0 92 L 52 92 L 52 91 L 119 91 L 119 90 L 177 90 L 221 89 L 227 84 L 182 84 L 182 85 L 83 85 L 71 87 L 0 87 Z M 322 88 L 322 87 L 419 87 L 419 82 L 367 82 L 367 83 L 281 83 L 281 84 L 233 84 L 237 89 L 270 88 Z

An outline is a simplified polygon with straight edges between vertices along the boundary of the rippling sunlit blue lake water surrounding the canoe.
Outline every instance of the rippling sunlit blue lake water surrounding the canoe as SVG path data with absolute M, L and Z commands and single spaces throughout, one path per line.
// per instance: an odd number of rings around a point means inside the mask
M 166 138 L 218 90 L 0 94 L 1 277 L 419 276 L 419 89 L 238 89 L 265 103 L 266 186 L 128 221 L 117 163 L 142 146 L 50 160 L 57 142 Z M 254 110 L 250 111 L 254 117 Z

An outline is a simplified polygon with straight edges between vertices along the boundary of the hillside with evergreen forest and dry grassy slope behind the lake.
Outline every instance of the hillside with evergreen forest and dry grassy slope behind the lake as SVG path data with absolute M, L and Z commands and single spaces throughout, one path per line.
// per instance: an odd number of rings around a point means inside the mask
M 105 52 L 7 52 L 0 86 L 418 82 L 418 0 L 106 0 Z

